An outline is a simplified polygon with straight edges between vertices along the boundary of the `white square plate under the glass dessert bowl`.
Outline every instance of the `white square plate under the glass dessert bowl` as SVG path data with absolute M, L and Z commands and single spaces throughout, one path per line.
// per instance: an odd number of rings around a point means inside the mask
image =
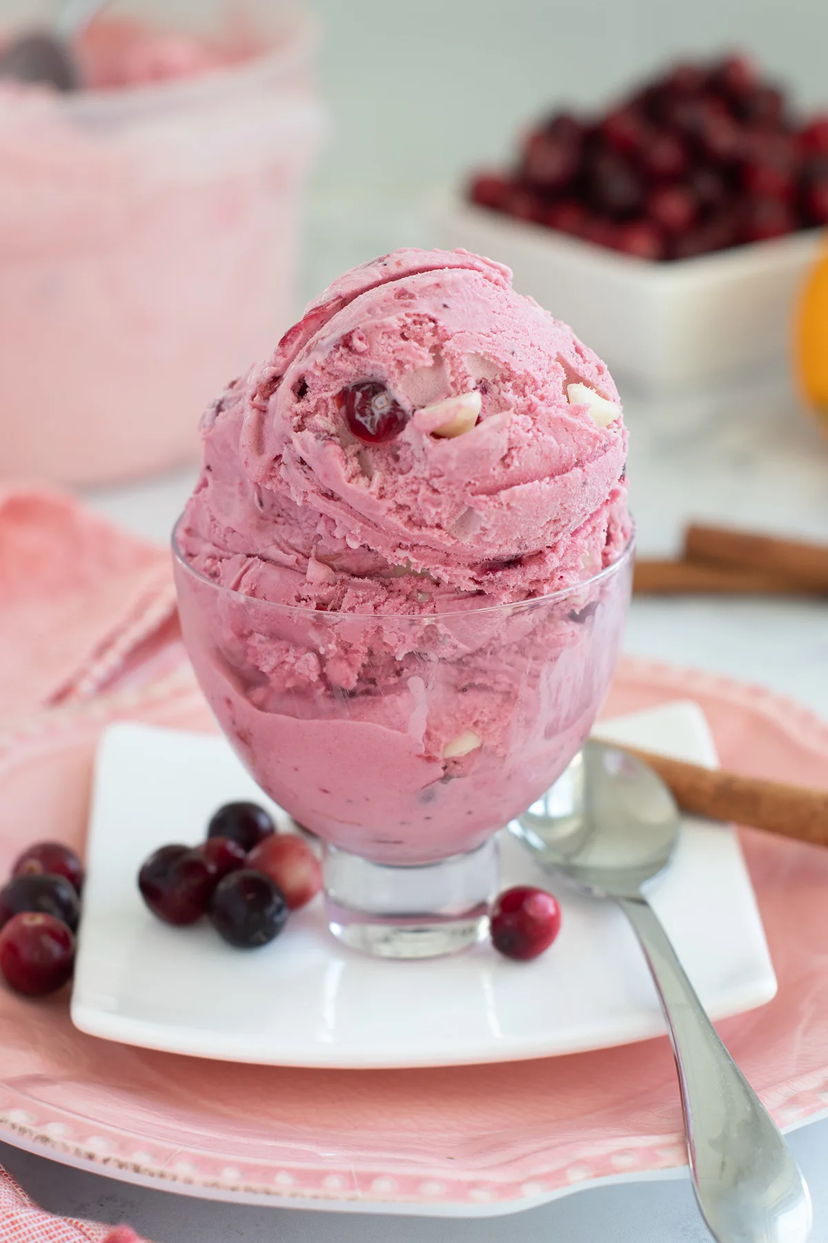
M 639 712 L 597 731 L 715 764 L 694 704 Z M 204 921 L 155 920 L 137 888 L 143 859 L 195 844 L 231 799 L 267 804 L 223 738 L 115 725 L 97 762 L 72 1019 L 82 1032 L 171 1053 L 295 1066 L 427 1066 L 607 1048 L 664 1023 L 623 916 L 545 878 L 508 834 L 503 885 L 552 888 L 562 930 L 530 963 L 480 945 L 453 958 L 365 958 L 328 932 L 318 899 L 269 946 L 231 948 Z M 284 813 L 268 804 L 286 823 Z M 735 833 L 685 819 L 675 863 L 654 890 L 690 979 L 713 1018 L 776 992 L 756 900 Z

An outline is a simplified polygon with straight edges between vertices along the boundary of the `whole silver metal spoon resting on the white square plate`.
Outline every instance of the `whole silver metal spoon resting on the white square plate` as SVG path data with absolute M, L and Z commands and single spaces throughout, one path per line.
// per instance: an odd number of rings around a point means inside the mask
M 806 1243 L 811 1196 L 782 1135 L 719 1039 L 644 896 L 679 830 L 662 779 L 617 747 L 587 742 L 509 825 L 577 889 L 612 897 L 636 930 L 670 1033 L 696 1201 L 718 1243 Z

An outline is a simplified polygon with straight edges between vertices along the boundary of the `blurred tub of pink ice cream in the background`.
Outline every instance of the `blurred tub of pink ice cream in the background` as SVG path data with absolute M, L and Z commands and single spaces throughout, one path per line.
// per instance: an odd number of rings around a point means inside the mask
M 294 313 L 315 24 L 170 7 L 107 6 L 74 46 L 82 89 L 0 82 L 0 479 L 195 461 L 192 409 Z

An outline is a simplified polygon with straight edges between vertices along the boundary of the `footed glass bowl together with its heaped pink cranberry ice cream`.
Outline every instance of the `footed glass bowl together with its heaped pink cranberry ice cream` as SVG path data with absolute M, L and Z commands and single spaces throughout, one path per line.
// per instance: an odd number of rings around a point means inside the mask
M 618 655 L 611 375 L 508 268 L 398 250 L 312 302 L 201 434 L 175 574 L 218 723 L 322 840 L 334 935 L 474 943 L 498 830 L 577 753 Z

